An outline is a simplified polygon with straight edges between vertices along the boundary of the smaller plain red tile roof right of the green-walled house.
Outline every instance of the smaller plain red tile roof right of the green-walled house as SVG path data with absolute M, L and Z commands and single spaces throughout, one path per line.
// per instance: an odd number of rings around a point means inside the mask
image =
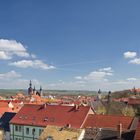
M 113 128 L 116 129 L 119 123 L 123 130 L 128 129 L 133 121 L 132 117 L 113 115 L 89 115 L 84 127 Z

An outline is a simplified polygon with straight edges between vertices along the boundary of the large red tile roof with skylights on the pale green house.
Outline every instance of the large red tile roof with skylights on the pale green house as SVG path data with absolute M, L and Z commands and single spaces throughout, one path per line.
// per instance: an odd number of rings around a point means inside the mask
M 60 105 L 24 105 L 11 120 L 12 124 L 44 126 L 56 125 L 80 128 L 87 117 L 90 107 L 79 107 L 76 110 L 71 106 Z

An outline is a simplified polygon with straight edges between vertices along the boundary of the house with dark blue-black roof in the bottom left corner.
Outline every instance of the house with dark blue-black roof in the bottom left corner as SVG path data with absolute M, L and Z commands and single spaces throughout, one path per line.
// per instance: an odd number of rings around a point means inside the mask
M 3 131 L 6 140 L 10 140 L 10 120 L 16 115 L 13 112 L 5 112 L 0 118 L 0 129 Z

